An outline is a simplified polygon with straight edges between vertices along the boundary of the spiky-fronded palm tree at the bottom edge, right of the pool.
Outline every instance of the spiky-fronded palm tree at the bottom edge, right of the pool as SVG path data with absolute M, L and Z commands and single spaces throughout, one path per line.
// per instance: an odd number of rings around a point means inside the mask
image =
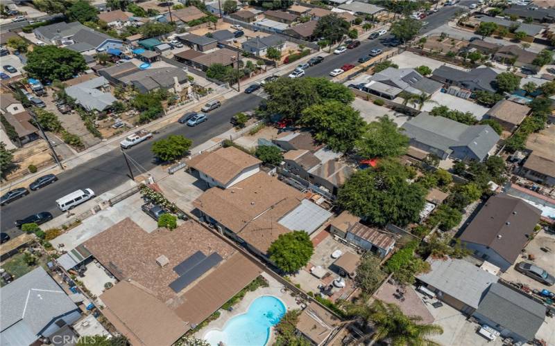
M 349 315 L 355 314 L 355 318 L 373 324 L 373 332 L 355 340 L 357 344 L 370 340 L 370 346 L 377 341 L 386 341 L 390 345 L 436 346 L 439 344 L 427 336 L 443 334 L 440 326 L 420 324 L 422 318 L 404 315 L 396 304 L 375 300 L 371 306 L 344 303 L 343 307 Z

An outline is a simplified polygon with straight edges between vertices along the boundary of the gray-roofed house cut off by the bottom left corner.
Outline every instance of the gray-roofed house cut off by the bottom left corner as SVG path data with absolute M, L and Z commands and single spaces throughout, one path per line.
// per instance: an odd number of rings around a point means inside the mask
M 76 304 L 40 266 L 0 289 L 0 308 L 1 345 L 31 345 L 81 316 Z

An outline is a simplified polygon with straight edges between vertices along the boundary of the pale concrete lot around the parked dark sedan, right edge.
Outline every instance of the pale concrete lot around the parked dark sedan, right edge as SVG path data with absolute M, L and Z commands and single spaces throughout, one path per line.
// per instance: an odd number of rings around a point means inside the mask
M 545 253 L 541 250 L 541 247 L 547 247 L 551 249 L 551 253 Z M 528 246 L 526 246 L 526 255 L 533 255 L 535 260 L 525 260 L 527 262 L 533 262 L 536 266 L 545 269 L 551 275 L 555 275 L 555 235 L 551 233 L 546 233 L 545 230 L 540 230 L 540 233 L 529 242 Z M 518 262 L 523 261 L 524 258 L 519 256 L 516 260 L 515 264 Z M 553 286 L 547 286 L 533 280 L 531 277 L 527 277 L 515 271 L 514 266 L 511 266 L 501 277 L 505 280 L 509 280 L 512 282 L 521 282 L 522 284 L 527 284 L 531 289 L 549 289 L 553 291 Z

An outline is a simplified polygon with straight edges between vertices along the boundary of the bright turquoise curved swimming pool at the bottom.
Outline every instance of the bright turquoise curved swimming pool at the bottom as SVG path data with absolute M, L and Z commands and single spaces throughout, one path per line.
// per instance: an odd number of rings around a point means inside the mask
M 234 316 L 222 331 L 211 330 L 205 334 L 210 345 L 264 346 L 270 337 L 270 327 L 277 325 L 285 314 L 285 305 L 271 295 L 256 298 L 246 313 Z

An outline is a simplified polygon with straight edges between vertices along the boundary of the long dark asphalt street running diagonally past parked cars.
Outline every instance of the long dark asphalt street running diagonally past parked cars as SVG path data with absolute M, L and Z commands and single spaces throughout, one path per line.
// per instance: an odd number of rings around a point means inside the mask
M 420 33 L 425 34 L 434 28 L 445 24 L 457 10 L 464 10 L 462 6 L 468 6 L 473 3 L 471 0 L 463 0 L 459 6 L 448 6 L 441 8 L 439 12 L 429 15 L 424 20 L 428 22 L 427 26 L 422 28 Z M 461 6 L 462 5 L 462 6 Z M 466 8 L 468 10 L 468 8 Z M 325 58 L 321 64 L 312 66 L 306 71 L 308 76 L 327 76 L 333 69 L 339 69 L 343 64 L 357 64 L 357 60 L 362 55 L 374 48 L 384 48 L 380 41 L 391 37 L 391 35 L 384 35 L 378 39 L 364 39 L 361 45 L 355 49 L 348 50 L 341 55 L 330 55 Z M 288 74 L 288 73 L 287 73 Z M 228 100 L 223 106 L 210 113 L 210 119 L 197 127 L 187 127 L 186 125 L 169 125 L 160 131 L 160 134 L 155 135 L 157 138 L 162 138 L 170 134 L 180 134 L 191 138 L 193 145 L 209 140 L 217 136 L 232 126 L 230 125 L 231 117 L 238 112 L 248 111 L 258 106 L 262 98 L 257 95 L 247 95 L 241 93 L 236 97 Z M 126 153 L 142 165 L 146 170 L 154 167 L 153 155 L 151 153 L 152 141 L 141 143 L 131 149 L 126 150 Z M 139 173 L 139 172 L 135 172 Z M 36 212 L 49 211 L 55 217 L 62 214 L 56 208 L 56 199 L 65 196 L 75 190 L 81 188 L 91 188 L 98 196 L 106 191 L 109 191 L 127 179 L 128 169 L 123 156 L 119 149 L 114 150 L 103 156 L 99 156 L 83 165 L 80 165 L 68 172 L 60 174 L 59 181 L 52 185 L 42 188 L 41 190 L 31 192 L 26 197 L 14 201 L 7 206 L 3 206 L 0 210 L 0 229 L 6 232 L 10 237 L 15 237 L 21 233 L 13 226 L 14 221 L 22 219 L 28 215 Z

